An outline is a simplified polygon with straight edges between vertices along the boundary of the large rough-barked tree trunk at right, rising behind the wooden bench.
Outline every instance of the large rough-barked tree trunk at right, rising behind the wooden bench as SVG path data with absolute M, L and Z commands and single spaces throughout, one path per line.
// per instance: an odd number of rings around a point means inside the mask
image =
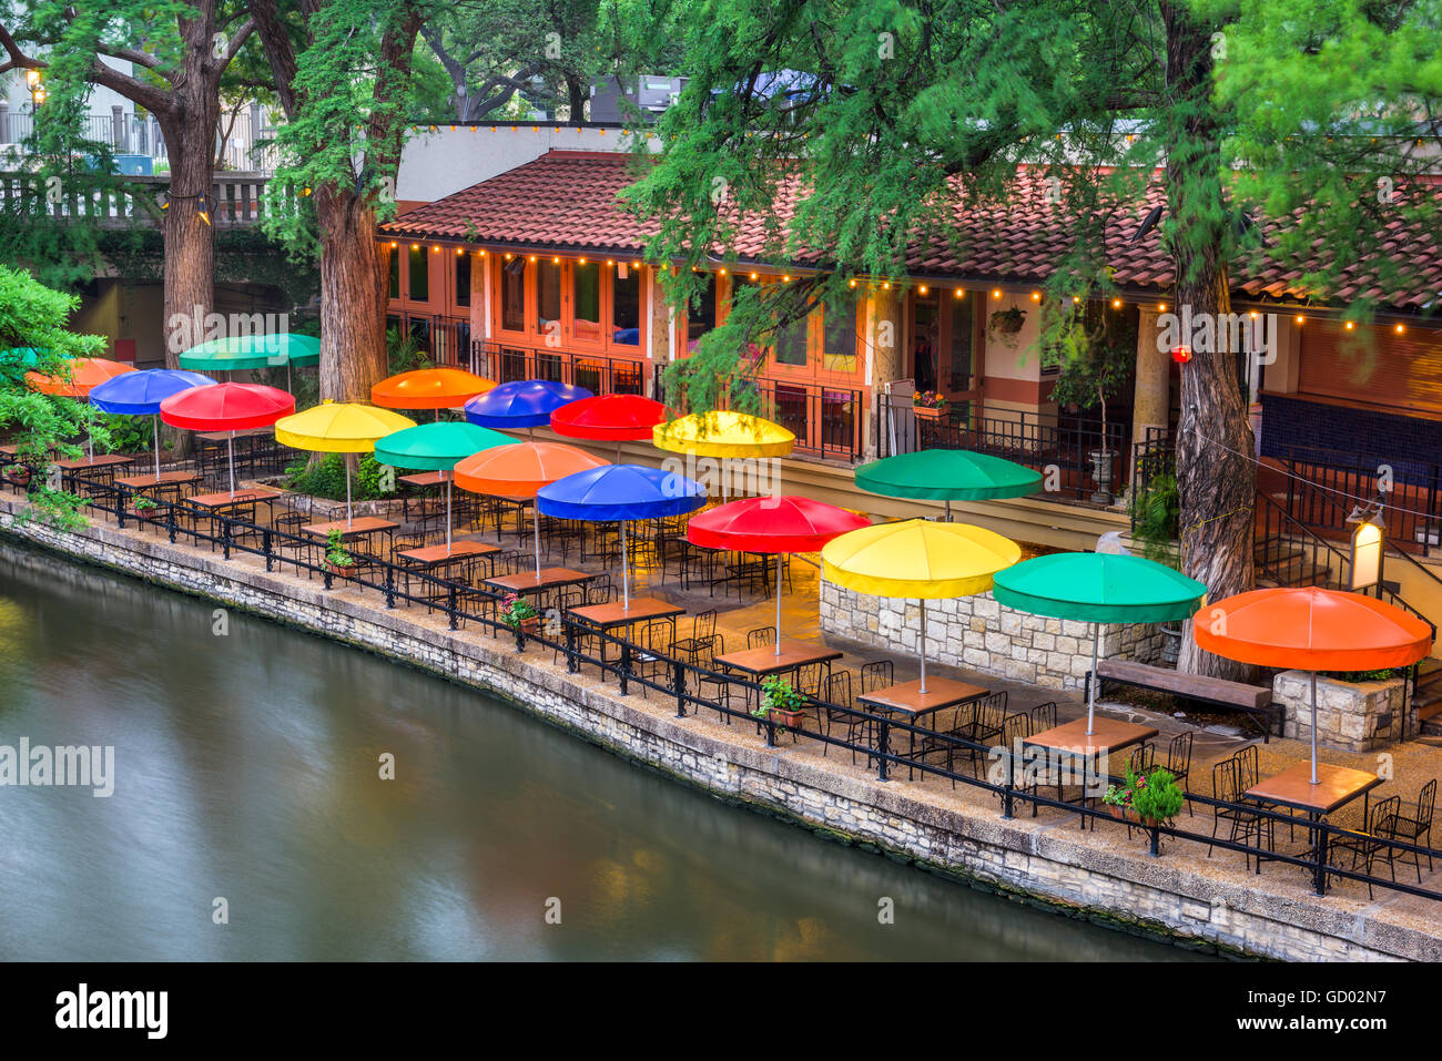
M 1194 22 L 1185 4 L 1164 3 L 1167 82 L 1175 118 L 1167 157 L 1168 229 L 1177 267 L 1177 311 L 1197 320 L 1213 314 L 1218 342 L 1194 349 L 1181 370 L 1177 486 L 1181 500 L 1182 571 L 1217 601 L 1255 587 L 1253 506 L 1256 466 L 1252 425 L 1237 383 L 1237 352 L 1227 343 L 1223 314 L 1231 311 L 1227 284 L 1227 205 L 1221 186 L 1218 130 L 1210 104 L 1211 27 Z M 1184 342 L 1190 343 L 1190 336 Z M 1203 605 L 1197 621 L 1214 621 Z M 1252 667 L 1203 652 L 1182 636 L 1177 669 L 1246 680 Z

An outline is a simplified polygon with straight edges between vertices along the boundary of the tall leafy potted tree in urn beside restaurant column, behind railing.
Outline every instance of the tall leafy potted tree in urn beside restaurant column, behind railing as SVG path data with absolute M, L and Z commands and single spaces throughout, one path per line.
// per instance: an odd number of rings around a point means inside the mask
M 1126 386 L 1136 365 L 1136 321 L 1097 303 L 1069 311 L 1051 326 L 1044 342 L 1060 363 L 1051 386 L 1051 401 L 1079 409 L 1097 409 L 1102 419 L 1099 445 L 1087 451 L 1092 461 L 1094 505 L 1112 503 L 1116 451 L 1107 431 L 1106 404 Z

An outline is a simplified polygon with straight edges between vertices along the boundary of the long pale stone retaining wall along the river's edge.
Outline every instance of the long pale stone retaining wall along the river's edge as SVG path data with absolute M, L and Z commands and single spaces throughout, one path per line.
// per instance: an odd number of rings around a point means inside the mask
M 549 650 L 518 654 L 509 639 L 435 630 L 319 582 L 226 564 L 219 555 L 130 536 L 108 526 L 62 533 L 16 526 L 12 539 L 215 600 L 487 689 L 518 708 L 712 794 L 815 832 L 880 849 L 981 887 L 1070 914 L 1182 937 L 1223 950 L 1292 960 L 1439 960 L 1442 938 L 1386 905 L 1332 897 L 1298 901 L 1265 878 L 1211 875 L 1141 851 L 1087 842 L 1074 823 L 943 807 L 904 783 L 841 774 L 787 747 L 747 745 L 675 706 L 624 698 L 614 685 L 547 666 Z M 9 562 L 23 562 L 23 551 Z M 1067 634 L 1063 634 L 1067 636 Z

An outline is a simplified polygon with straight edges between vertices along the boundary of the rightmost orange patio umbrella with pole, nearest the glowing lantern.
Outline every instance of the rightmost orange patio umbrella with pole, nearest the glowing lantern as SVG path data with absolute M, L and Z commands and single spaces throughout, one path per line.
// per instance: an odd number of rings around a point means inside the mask
M 1432 650 L 1433 633 L 1425 620 L 1376 597 L 1306 585 L 1253 590 L 1204 604 L 1191 636 L 1217 656 L 1312 673 L 1317 784 L 1317 672 L 1405 667 Z

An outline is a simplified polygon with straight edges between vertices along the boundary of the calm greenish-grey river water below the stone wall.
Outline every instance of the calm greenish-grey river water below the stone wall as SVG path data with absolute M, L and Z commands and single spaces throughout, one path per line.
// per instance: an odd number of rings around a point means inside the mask
M 0 745 L 114 745 L 110 797 L 0 787 L 0 957 L 1191 957 L 722 804 L 388 660 L 225 621 L 0 543 Z

